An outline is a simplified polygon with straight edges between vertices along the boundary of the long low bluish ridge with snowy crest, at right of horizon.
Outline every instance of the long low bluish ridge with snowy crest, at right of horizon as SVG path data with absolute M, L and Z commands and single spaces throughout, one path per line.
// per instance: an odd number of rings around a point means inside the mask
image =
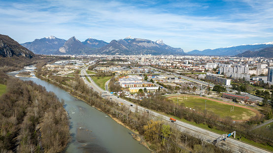
M 217 49 L 206 49 L 203 51 L 193 50 L 191 52 L 187 52 L 187 54 L 235 56 L 245 51 L 256 52 L 256 51 L 269 48 L 269 47 L 273 47 L 273 42 L 268 42 L 264 44 L 240 45 L 240 46 L 232 46 L 232 47 L 217 48 Z

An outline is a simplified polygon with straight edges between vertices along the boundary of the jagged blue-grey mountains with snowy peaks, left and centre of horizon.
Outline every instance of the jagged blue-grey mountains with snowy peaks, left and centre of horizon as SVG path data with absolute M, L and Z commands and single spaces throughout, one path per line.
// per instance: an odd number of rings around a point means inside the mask
M 173 48 L 163 43 L 163 40 L 151 41 L 148 39 L 132 38 L 112 40 L 107 43 L 102 40 L 88 38 L 80 42 L 75 36 L 67 41 L 54 36 L 35 39 L 33 42 L 23 43 L 22 46 L 35 54 L 57 55 L 139 55 L 139 54 L 180 54 L 185 55 L 181 48 Z

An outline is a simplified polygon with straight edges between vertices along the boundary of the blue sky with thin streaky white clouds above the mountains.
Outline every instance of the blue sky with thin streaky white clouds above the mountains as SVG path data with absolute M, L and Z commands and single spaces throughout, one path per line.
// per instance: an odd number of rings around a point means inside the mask
M 0 0 L 0 34 L 110 42 L 143 38 L 216 49 L 273 41 L 273 0 Z

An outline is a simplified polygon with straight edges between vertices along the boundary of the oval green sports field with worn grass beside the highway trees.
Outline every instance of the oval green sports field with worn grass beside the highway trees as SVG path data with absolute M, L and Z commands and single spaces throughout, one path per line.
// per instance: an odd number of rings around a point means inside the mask
M 176 103 L 177 96 L 171 97 L 171 100 Z M 206 107 L 207 111 L 212 111 L 215 114 L 218 114 L 221 118 L 229 116 L 233 120 L 247 120 L 256 115 L 256 113 L 251 110 L 237 106 L 235 106 L 234 111 L 231 112 L 230 110 L 233 106 L 209 99 L 200 98 L 199 96 L 187 96 L 187 99 L 186 96 L 184 98 L 184 95 L 178 96 L 178 103 L 184 103 L 186 107 L 201 111 L 204 111 Z

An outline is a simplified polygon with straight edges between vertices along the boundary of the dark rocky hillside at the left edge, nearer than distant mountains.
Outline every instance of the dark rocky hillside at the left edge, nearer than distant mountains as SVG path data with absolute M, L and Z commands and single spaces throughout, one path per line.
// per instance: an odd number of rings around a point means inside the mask
M 7 35 L 0 34 L 0 56 L 33 58 L 35 54 Z

